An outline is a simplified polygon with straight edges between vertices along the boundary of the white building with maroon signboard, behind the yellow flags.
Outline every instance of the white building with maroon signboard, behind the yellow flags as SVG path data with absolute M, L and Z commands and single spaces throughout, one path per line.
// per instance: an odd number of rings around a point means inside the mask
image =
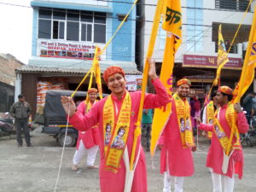
M 141 17 L 142 25 L 141 42 L 138 47 L 142 53 L 137 61 L 141 66 L 146 57 L 148 39 L 151 32 L 152 20 L 156 0 L 144 1 Z M 209 90 L 216 74 L 218 55 L 218 26 L 222 24 L 222 34 L 226 49 L 230 48 L 230 61 L 225 65 L 221 74 L 221 84 L 230 85 L 232 88 L 240 78 L 243 63 L 242 44 L 247 42 L 253 22 L 253 11 L 256 1 L 253 0 L 241 29 L 230 47 L 236 29 L 241 22 L 249 1 L 247 0 L 181 0 L 183 36 L 182 44 L 177 50 L 174 67 L 174 81 L 187 77 L 193 82 L 192 88 L 201 97 Z M 154 58 L 160 65 L 165 49 L 166 32 L 161 27 L 154 47 Z

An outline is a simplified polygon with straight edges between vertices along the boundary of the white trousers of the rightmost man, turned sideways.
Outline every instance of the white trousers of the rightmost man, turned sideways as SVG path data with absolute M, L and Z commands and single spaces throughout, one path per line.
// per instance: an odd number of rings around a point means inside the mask
M 212 171 L 210 168 L 210 172 L 212 174 L 212 186 L 213 192 L 222 192 L 222 185 L 221 185 L 221 175 Z M 224 176 L 224 192 L 233 192 L 234 189 L 235 178 Z

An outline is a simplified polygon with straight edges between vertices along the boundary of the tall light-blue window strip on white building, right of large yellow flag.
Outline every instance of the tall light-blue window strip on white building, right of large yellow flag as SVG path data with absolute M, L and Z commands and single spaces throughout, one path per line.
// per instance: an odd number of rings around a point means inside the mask
M 187 51 L 201 52 L 203 51 L 203 10 L 202 0 L 187 0 L 189 8 L 187 9 Z

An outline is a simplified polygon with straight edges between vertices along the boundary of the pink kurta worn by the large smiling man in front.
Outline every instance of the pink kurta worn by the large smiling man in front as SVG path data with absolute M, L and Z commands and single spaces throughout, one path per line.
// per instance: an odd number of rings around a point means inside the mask
M 154 89 L 156 90 L 156 95 L 146 94 L 144 100 L 144 108 L 159 108 L 166 105 L 169 102 L 169 97 L 167 95 L 166 89 L 163 84 L 160 83 L 160 79 L 155 79 Z M 136 91 L 129 93 L 131 94 L 131 125 L 128 134 L 128 139 L 126 146 L 128 148 L 129 156 L 131 156 L 131 147 L 133 143 L 133 135 L 136 129 L 135 123 L 137 122 L 138 109 L 141 98 L 141 91 Z M 122 100 L 118 100 L 115 96 L 111 95 L 114 105 L 120 110 Z M 100 165 L 100 184 L 102 192 L 123 192 L 125 187 L 125 163 L 122 159 L 120 161 L 119 172 L 113 173 L 106 171 L 104 169 L 104 136 L 103 136 L 103 107 L 106 102 L 106 98 L 102 99 L 100 102 L 96 102 L 90 113 L 86 115 L 81 115 L 80 113 L 75 113 L 72 118 L 70 118 L 70 123 L 78 128 L 80 131 L 86 131 L 89 127 L 99 123 L 100 129 L 100 149 L 101 149 L 101 165 Z M 115 117 L 115 120 L 117 117 Z M 138 148 L 141 148 L 141 153 L 138 154 Z M 132 183 L 131 192 L 147 192 L 147 170 L 145 155 L 143 148 L 141 147 L 141 137 L 137 141 L 136 156 L 139 155 L 139 160 L 137 162 L 137 167 L 134 174 L 134 179 Z

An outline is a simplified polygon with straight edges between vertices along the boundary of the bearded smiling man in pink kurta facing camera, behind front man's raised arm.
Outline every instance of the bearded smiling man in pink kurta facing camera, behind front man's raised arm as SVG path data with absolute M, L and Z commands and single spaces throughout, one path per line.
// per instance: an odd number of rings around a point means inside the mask
M 177 81 L 177 96 L 185 102 L 189 95 L 189 79 Z M 190 113 L 189 113 L 190 115 Z M 192 128 L 192 127 L 191 127 Z M 191 148 L 183 148 L 176 105 L 172 96 L 172 113 L 159 141 L 160 172 L 165 173 L 164 192 L 171 192 L 171 178 L 175 179 L 175 191 L 183 191 L 184 177 L 194 174 L 194 163 Z M 194 150 L 195 148 L 193 148 Z

